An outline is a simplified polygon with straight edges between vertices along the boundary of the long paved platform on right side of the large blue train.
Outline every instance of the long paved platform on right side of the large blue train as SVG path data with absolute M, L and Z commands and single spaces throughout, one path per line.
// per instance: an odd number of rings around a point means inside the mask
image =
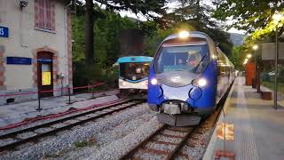
M 213 132 L 203 159 L 284 159 L 284 108 L 273 108 L 272 100 L 262 100 L 256 89 L 245 85 L 244 77 L 237 77 L 225 101 L 225 114 L 218 123 L 233 124 L 233 139 L 226 140 L 225 150 L 234 158 L 217 158 L 224 150 L 224 140 Z

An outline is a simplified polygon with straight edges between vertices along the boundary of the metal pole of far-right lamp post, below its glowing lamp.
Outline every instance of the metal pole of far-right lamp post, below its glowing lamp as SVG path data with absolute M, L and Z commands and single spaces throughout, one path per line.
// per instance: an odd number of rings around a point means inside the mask
M 274 70 L 274 108 L 277 109 L 277 76 L 278 76 L 278 23 L 275 33 L 275 70 Z

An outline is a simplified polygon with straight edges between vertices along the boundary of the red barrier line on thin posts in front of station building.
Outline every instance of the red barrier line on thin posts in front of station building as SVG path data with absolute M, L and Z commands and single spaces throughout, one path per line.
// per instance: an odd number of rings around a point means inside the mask
M 41 93 L 46 93 L 46 92 L 63 92 L 63 91 L 67 91 L 67 96 L 68 96 L 68 102 L 67 104 L 71 104 L 71 90 L 75 91 L 75 90 L 79 90 L 79 89 L 90 89 L 91 88 L 91 98 L 94 99 L 95 98 L 95 87 L 104 85 L 104 83 L 97 83 L 97 84 L 91 84 L 91 85 L 85 85 L 85 86 L 77 86 L 77 87 L 62 87 L 59 89 L 54 89 L 54 90 L 48 90 L 48 91 L 37 91 L 37 92 L 17 92 L 17 93 L 8 93 L 8 94 L 0 94 L 0 97 L 11 97 L 11 96 L 18 96 L 18 95 L 27 95 L 27 94 L 38 94 L 38 108 L 36 108 L 37 111 L 41 111 L 43 108 L 41 108 Z M 61 94 L 62 95 L 62 94 Z

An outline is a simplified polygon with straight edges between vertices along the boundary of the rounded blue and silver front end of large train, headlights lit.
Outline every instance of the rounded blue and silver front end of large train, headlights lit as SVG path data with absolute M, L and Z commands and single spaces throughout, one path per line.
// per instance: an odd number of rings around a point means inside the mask
M 184 35 L 182 35 L 184 34 Z M 216 106 L 215 44 L 201 32 L 168 36 L 150 67 L 148 105 L 164 124 L 199 124 Z

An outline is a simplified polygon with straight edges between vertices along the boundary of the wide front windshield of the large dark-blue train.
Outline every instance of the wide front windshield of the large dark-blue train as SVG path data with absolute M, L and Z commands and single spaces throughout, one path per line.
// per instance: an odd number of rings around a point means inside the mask
M 188 71 L 201 73 L 209 62 L 208 44 L 162 46 L 155 60 L 156 73 Z

